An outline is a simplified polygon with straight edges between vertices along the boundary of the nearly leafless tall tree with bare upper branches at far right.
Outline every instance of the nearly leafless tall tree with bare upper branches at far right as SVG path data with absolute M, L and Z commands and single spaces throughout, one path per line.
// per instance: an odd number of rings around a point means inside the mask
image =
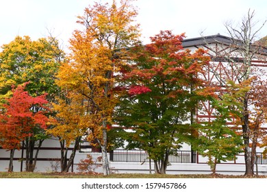
M 227 31 L 233 41 L 230 45 L 230 51 L 226 54 L 226 58 L 229 60 L 229 66 L 231 66 L 233 80 L 236 84 L 242 84 L 248 80 L 251 81 L 251 87 L 259 86 L 260 89 L 264 89 L 266 86 L 266 71 L 257 67 L 257 63 L 262 61 L 266 63 L 266 53 L 264 53 L 264 40 L 258 40 L 257 36 L 260 30 L 264 27 L 266 21 L 262 25 L 258 25 L 255 21 L 255 12 L 249 10 L 239 23 L 239 27 L 233 26 L 231 23 L 227 23 Z M 236 61 L 234 58 L 240 58 L 240 61 Z M 257 63 L 255 63 L 257 61 Z M 229 74 L 227 74 L 229 75 Z M 219 77 L 222 80 L 221 77 Z M 257 84 L 261 82 L 260 84 Z M 255 104 L 255 95 L 262 97 L 256 93 L 253 93 L 255 89 L 247 91 L 244 97 L 240 97 L 240 103 L 242 103 L 242 117 L 240 117 L 240 125 L 242 125 L 242 136 L 244 141 L 244 158 L 246 164 L 245 174 L 251 176 L 254 174 L 255 163 L 255 144 L 257 134 L 251 134 L 255 132 L 255 124 L 257 120 L 264 119 L 263 112 L 260 112 L 259 106 Z M 254 95 L 253 97 L 251 97 Z M 262 97 L 263 98 L 263 97 Z M 253 101 L 254 100 L 254 101 Z M 255 105 L 254 105 L 255 104 Z M 263 104 L 263 103 L 262 103 Z M 258 114 L 255 115 L 255 111 Z M 258 117 L 258 118 L 257 118 Z M 259 128 L 259 127 L 258 127 Z M 258 130 L 258 129 L 257 129 Z

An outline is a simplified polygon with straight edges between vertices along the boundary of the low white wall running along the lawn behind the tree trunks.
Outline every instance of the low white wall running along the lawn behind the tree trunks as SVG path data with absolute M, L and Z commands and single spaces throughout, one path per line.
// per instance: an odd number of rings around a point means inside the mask
M 80 160 L 86 158 L 86 153 L 77 152 L 73 171 L 78 172 L 77 164 Z M 58 157 L 60 154 L 58 154 Z M 92 154 L 93 158 L 101 156 L 101 153 Z M 7 171 L 8 160 L 1 160 L 0 171 Z M 99 165 L 99 164 L 98 164 Z M 25 167 L 25 165 L 23 165 Z M 149 163 L 135 163 L 135 162 L 110 162 L 110 168 L 114 173 L 149 173 Z M 154 165 L 151 163 L 152 173 Z M 14 171 L 21 170 L 21 161 L 14 160 Z M 244 165 L 238 164 L 219 164 L 217 165 L 217 173 L 229 175 L 242 175 L 244 174 Z M 256 170 L 256 168 L 255 168 Z M 58 161 L 38 161 L 35 171 L 60 171 L 60 162 Z M 101 173 L 102 168 L 97 167 L 94 171 Z M 258 165 L 259 175 L 267 175 L 267 165 Z M 207 164 L 196 163 L 171 163 L 167 168 L 168 174 L 197 174 L 197 173 L 212 173 Z

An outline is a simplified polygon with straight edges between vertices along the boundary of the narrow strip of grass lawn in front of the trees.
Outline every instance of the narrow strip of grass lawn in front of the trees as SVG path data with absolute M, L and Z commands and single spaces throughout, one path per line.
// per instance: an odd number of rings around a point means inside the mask
M 244 176 L 230 176 L 230 175 L 211 175 L 211 174 L 177 174 L 177 175 L 161 175 L 161 174 L 112 174 L 110 176 L 103 176 L 98 173 L 40 173 L 40 172 L 0 172 L 0 178 L 248 178 Z M 267 176 L 253 176 L 249 178 L 267 178 Z

